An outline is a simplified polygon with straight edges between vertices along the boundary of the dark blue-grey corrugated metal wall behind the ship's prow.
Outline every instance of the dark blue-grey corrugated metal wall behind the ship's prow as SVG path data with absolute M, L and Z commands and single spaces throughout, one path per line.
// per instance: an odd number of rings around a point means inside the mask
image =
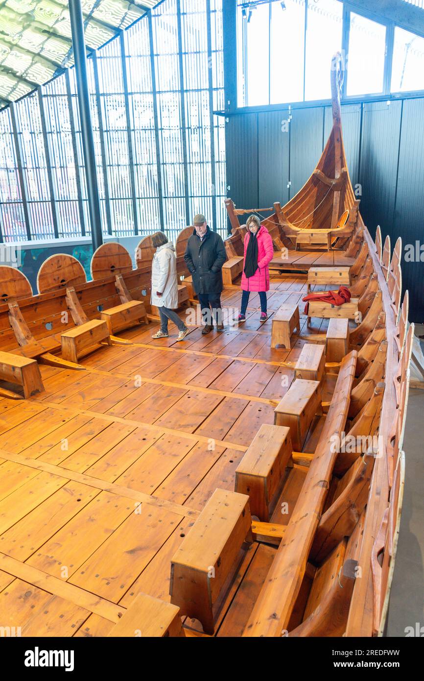
M 227 195 L 239 208 L 287 203 L 304 185 L 331 130 L 331 108 L 235 114 L 227 119 Z M 344 146 L 361 213 L 374 237 L 423 244 L 423 262 L 402 258 L 410 319 L 424 320 L 424 99 L 345 104 Z M 287 185 L 291 182 L 291 186 Z M 268 214 L 267 214 L 268 215 Z M 419 249 L 418 246 L 418 249 Z M 418 253 L 419 255 L 419 253 Z

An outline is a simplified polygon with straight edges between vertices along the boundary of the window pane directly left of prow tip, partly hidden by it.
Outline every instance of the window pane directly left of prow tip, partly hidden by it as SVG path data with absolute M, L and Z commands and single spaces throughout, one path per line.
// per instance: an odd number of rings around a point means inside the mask
M 305 99 L 329 99 L 331 57 L 342 48 L 343 3 L 308 0 Z

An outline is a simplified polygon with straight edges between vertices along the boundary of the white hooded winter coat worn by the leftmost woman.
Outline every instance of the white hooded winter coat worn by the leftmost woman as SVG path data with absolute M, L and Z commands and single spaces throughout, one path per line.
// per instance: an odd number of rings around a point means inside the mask
M 163 294 L 161 298 L 157 292 Z M 151 304 L 157 307 L 178 308 L 177 261 L 174 246 L 163 244 L 154 253 L 152 260 Z

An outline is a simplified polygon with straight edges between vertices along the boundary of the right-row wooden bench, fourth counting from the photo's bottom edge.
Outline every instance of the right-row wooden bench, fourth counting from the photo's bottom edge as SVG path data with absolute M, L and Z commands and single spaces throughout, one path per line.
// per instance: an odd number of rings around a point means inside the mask
M 316 413 L 321 413 L 319 381 L 295 379 L 274 411 L 274 424 L 290 428 L 295 452 L 301 452 Z

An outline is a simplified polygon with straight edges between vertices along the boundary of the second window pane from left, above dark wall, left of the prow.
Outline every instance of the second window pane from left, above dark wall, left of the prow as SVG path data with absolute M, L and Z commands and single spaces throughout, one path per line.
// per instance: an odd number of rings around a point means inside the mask
M 271 104 L 304 99 L 305 0 L 284 5 L 271 5 Z

